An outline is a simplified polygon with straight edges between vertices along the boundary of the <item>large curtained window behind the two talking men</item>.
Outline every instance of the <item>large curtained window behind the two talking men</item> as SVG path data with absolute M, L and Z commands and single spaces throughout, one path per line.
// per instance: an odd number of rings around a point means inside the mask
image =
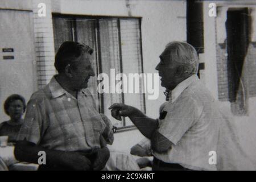
M 140 24 L 139 18 L 53 14 L 55 52 L 64 41 L 77 41 L 95 50 L 93 56 L 96 61 L 93 63 L 93 68 L 97 76 L 100 73 L 106 73 L 110 81 L 110 69 L 115 70 L 115 75 L 118 73 L 140 74 L 143 72 Z M 129 118 L 122 118 L 120 122 L 111 117 L 108 107 L 117 102 L 133 105 L 145 111 L 144 94 L 99 94 L 97 86 L 100 81 L 97 80 L 97 76 L 90 78 L 88 88 L 94 95 L 98 111 L 110 118 L 113 125 L 117 127 L 117 131 L 133 128 L 134 125 Z M 115 81 L 116 84 L 117 82 Z

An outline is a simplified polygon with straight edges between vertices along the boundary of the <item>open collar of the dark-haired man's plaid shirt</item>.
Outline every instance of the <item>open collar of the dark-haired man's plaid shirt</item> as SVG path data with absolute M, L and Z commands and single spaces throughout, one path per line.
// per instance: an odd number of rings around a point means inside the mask
M 51 81 L 49 82 L 49 89 L 51 90 L 52 98 L 57 98 L 62 96 L 63 94 L 67 94 L 67 90 L 65 90 L 59 82 L 56 80 L 56 75 L 51 78 Z M 87 89 L 82 89 L 81 92 L 85 94 L 85 96 L 88 95 Z

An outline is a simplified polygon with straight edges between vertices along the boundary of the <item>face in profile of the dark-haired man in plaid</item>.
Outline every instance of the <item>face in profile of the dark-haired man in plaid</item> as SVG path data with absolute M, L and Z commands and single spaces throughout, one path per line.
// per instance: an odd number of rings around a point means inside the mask
M 80 56 L 76 63 L 76 68 L 73 69 L 72 81 L 76 85 L 76 90 L 81 90 L 88 87 L 88 81 L 91 76 L 95 76 L 92 68 L 92 55 L 84 53 Z

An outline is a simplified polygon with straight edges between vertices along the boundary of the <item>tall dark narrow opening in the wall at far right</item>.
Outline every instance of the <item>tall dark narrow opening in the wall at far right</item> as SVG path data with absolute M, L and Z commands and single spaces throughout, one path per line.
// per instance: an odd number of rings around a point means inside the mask
M 247 108 L 247 86 L 245 59 L 249 46 L 249 10 L 228 10 L 226 20 L 228 52 L 228 89 L 233 113 L 245 114 Z

